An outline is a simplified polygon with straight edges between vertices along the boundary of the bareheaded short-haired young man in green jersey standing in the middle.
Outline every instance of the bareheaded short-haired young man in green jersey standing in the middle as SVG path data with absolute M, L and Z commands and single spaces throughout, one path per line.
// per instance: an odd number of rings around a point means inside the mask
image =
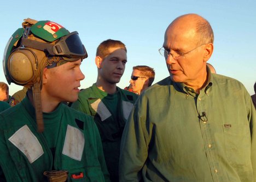
M 135 93 L 117 87 L 127 62 L 126 47 L 108 39 L 97 48 L 97 81 L 79 93 L 71 107 L 94 117 L 101 134 L 103 151 L 111 181 L 119 181 L 120 141 L 126 120 L 137 100 Z

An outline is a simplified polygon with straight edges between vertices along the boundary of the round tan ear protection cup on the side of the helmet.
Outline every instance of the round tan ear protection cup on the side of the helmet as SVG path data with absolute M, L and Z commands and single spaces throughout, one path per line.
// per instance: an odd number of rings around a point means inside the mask
M 36 54 L 28 48 L 14 50 L 9 56 L 9 73 L 16 84 L 24 85 L 33 80 L 38 69 Z

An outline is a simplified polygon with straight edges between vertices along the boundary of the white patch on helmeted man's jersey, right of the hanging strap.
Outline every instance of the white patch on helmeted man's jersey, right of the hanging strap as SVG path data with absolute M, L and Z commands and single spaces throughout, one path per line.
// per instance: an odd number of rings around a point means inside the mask
M 68 125 L 62 154 L 81 161 L 84 151 L 84 143 L 85 139 L 83 132 Z

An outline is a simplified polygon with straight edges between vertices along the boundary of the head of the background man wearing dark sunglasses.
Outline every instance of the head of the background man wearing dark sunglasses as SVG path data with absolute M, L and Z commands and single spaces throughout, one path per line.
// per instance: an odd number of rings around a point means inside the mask
M 132 69 L 130 88 L 132 92 L 141 95 L 144 90 L 152 86 L 155 79 L 155 71 L 153 68 L 144 65 L 133 66 Z

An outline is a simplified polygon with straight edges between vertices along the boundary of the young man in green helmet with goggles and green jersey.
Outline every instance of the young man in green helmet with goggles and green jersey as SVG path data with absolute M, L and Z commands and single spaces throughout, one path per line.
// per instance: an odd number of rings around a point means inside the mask
M 109 181 L 94 120 L 62 104 L 78 99 L 87 56 L 78 33 L 52 21 L 25 19 L 11 36 L 4 74 L 28 91 L 0 113 L 0 181 Z

